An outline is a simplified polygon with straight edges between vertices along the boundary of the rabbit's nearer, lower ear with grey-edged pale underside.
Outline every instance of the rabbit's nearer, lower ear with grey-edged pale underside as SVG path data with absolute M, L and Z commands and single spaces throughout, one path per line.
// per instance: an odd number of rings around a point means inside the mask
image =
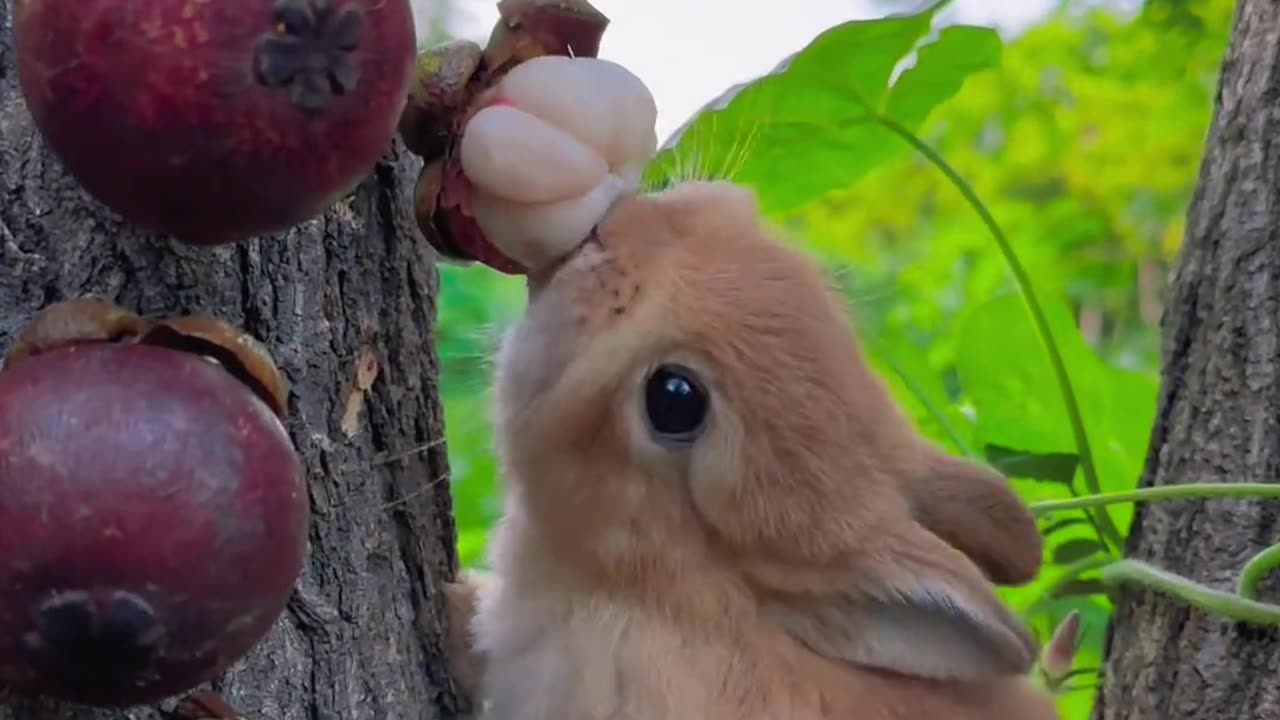
M 1034 638 L 973 562 L 916 524 L 882 539 L 846 578 L 773 575 L 765 616 L 814 652 L 861 666 L 960 680 L 1030 671 Z

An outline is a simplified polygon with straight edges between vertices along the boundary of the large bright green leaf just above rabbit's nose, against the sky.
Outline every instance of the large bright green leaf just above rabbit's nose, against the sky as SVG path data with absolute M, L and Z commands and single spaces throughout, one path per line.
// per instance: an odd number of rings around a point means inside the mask
M 881 118 L 914 131 L 969 76 L 1000 63 L 991 28 L 947 27 L 920 46 L 941 5 L 838 24 L 772 73 L 730 88 L 667 142 L 649 183 L 731 178 L 780 215 L 908 152 Z M 914 65 L 895 78 L 916 49 Z

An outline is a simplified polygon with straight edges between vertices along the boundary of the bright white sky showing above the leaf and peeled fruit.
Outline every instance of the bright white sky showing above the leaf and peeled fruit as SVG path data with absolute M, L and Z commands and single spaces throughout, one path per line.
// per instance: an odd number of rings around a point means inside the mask
M 456 0 L 453 35 L 484 42 L 497 0 Z M 945 18 L 1016 32 L 1057 0 L 955 0 Z M 769 72 L 828 27 L 918 3 L 870 0 L 591 0 L 609 17 L 600 55 L 634 72 L 658 102 L 658 140 L 730 86 Z M 884 6 L 892 6 L 886 10 Z M 899 9 L 901 8 L 901 9 Z

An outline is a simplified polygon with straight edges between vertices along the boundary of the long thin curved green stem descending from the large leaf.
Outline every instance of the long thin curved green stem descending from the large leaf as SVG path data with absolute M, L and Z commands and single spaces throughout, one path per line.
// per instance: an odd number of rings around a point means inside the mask
M 1050 364 L 1053 366 L 1053 375 L 1057 378 L 1059 391 L 1062 393 L 1062 402 L 1066 406 L 1066 415 L 1071 424 L 1071 434 L 1075 437 L 1075 446 L 1080 455 L 1080 470 L 1084 473 L 1084 484 L 1088 491 L 1093 495 L 1100 495 L 1102 492 L 1102 483 L 1098 479 L 1098 469 L 1093 461 L 1093 451 L 1089 447 L 1089 436 L 1084 428 L 1084 416 L 1080 413 L 1080 405 L 1075 398 L 1075 389 L 1071 387 L 1071 378 L 1066 372 L 1066 363 L 1062 360 L 1062 354 L 1059 351 L 1057 342 L 1053 338 L 1053 332 L 1048 327 L 1048 318 L 1044 315 L 1044 310 L 1041 307 L 1039 300 L 1036 297 L 1036 291 L 1032 287 L 1030 275 L 1027 274 L 1027 269 L 1023 268 L 1021 261 L 1018 259 L 1018 254 L 1014 252 L 1014 246 L 1010 245 L 1009 238 L 1005 237 L 1005 232 L 1000 229 L 1000 224 L 996 218 L 983 204 L 978 193 L 974 192 L 973 187 L 965 182 L 960 173 L 951 167 L 950 163 L 942 158 L 938 151 L 929 147 L 927 142 L 915 136 L 911 131 L 902 127 L 897 120 L 877 115 L 877 122 L 901 137 L 908 145 L 914 147 L 920 155 L 929 160 L 943 176 L 955 184 L 960 195 L 973 206 L 978 217 L 982 218 L 987 231 L 995 238 L 996 245 L 1000 247 L 1000 252 L 1005 256 L 1005 263 L 1009 265 L 1009 270 L 1014 275 L 1014 281 L 1018 284 L 1018 290 L 1021 293 L 1023 301 L 1027 304 L 1028 311 L 1030 311 L 1032 322 L 1036 324 L 1036 329 L 1041 334 L 1041 341 L 1044 343 L 1044 351 L 1048 354 Z M 1100 509 L 1097 512 L 1091 514 L 1093 523 L 1102 537 L 1105 543 L 1112 544 L 1116 550 L 1124 546 L 1124 537 L 1116 528 L 1115 521 L 1111 515 L 1105 510 Z

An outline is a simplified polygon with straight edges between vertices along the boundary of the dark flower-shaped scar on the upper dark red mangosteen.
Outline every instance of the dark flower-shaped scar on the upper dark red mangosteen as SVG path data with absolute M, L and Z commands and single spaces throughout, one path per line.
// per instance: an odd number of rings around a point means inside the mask
M 360 85 L 356 49 L 365 18 L 355 5 L 334 0 L 278 0 L 275 27 L 257 46 L 257 81 L 289 90 L 305 113 L 325 111 L 335 97 Z

